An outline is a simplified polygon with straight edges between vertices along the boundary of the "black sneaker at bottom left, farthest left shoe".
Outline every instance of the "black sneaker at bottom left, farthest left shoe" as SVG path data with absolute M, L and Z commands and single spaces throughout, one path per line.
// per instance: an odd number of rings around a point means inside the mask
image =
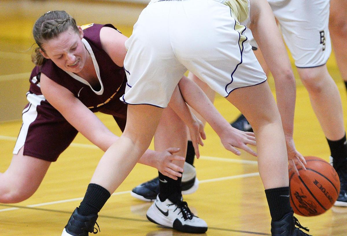
M 98 219 L 97 214 L 82 216 L 78 213 L 77 207 L 67 222 L 61 236 L 88 236 L 88 232 L 96 234 L 98 233 L 98 229 L 94 228 L 94 225 L 96 224 L 99 228 L 96 219 Z

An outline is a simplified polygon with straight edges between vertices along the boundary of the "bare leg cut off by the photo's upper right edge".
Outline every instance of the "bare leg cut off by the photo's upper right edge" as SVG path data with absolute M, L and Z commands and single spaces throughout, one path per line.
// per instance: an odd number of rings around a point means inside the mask
M 330 1 L 329 31 L 341 76 L 347 81 L 347 0 Z

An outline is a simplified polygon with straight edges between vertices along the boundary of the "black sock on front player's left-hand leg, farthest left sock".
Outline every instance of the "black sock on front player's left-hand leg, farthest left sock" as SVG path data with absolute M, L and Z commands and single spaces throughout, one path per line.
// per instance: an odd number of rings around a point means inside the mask
M 79 205 L 78 213 L 83 216 L 97 214 L 110 196 L 111 194 L 106 188 L 98 184 L 89 184 L 86 194 Z

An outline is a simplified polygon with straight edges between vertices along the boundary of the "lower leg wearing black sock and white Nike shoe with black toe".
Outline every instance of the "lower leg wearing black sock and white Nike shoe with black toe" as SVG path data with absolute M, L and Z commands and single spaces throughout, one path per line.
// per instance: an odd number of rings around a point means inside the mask
M 165 108 L 154 136 L 155 150 L 163 151 L 168 147 L 180 147 L 181 150 L 177 154 L 184 156 L 186 145 L 186 125 L 170 107 Z M 177 162 L 176 164 L 183 167 L 184 162 Z M 159 172 L 160 193 L 148 209 L 147 219 L 155 224 L 174 228 L 178 231 L 205 233 L 207 230 L 206 222 L 194 216 L 188 208 L 188 204 L 181 200 L 181 179 L 183 177 L 174 180 Z M 168 212 L 168 215 L 164 215 L 162 212 Z M 186 212 L 187 216 L 182 212 Z

